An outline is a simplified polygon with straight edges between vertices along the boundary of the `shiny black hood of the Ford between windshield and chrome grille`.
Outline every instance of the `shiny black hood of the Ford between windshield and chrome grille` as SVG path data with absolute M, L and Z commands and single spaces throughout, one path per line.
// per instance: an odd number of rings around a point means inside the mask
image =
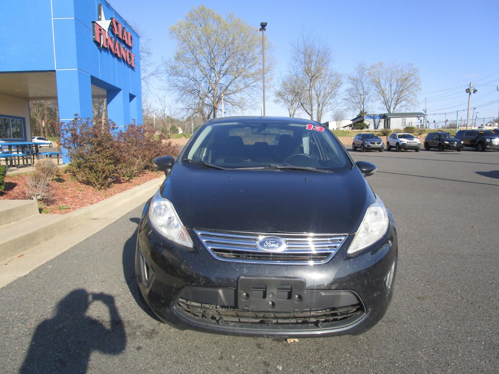
M 326 174 L 176 163 L 161 188 L 186 227 L 228 231 L 353 233 L 376 199 L 358 168 Z

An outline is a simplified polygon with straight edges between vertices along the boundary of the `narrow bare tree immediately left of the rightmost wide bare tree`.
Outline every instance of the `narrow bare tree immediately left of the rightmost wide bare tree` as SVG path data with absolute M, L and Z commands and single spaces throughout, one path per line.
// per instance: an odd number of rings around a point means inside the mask
M 352 74 L 347 77 L 348 87 L 344 101 L 348 108 L 359 111 L 365 116 L 372 103 L 373 85 L 369 77 L 369 68 L 364 62 L 359 62 Z

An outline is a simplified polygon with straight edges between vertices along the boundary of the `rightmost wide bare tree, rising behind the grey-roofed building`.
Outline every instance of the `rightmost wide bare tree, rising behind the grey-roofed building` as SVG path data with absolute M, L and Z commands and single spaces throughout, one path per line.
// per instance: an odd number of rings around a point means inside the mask
M 421 90 L 419 69 L 413 63 L 384 64 L 378 62 L 369 68 L 374 92 L 388 113 L 418 105 L 417 92 Z

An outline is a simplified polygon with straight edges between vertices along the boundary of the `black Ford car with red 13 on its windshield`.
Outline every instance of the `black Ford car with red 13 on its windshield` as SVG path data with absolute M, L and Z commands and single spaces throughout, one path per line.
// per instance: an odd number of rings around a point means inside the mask
M 145 204 L 135 272 L 164 322 L 272 337 L 358 334 L 390 304 L 397 234 L 355 164 L 319 123 L 212 119 Z

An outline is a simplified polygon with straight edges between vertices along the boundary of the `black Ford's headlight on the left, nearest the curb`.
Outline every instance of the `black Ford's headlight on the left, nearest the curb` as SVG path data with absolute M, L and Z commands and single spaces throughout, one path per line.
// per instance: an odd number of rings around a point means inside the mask
M 149 221 L 167 239 L 189 248 L 193 247 L 191 237 L 175 208 L 168 199 L 161 196 L 159 189 L 149 206 Z

